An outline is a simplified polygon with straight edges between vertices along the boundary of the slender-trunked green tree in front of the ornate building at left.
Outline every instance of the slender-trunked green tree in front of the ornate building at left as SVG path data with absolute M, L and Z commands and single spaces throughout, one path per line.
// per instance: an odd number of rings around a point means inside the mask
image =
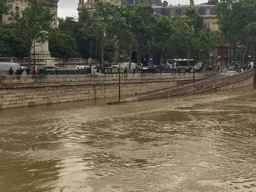
M 12 14 L 12 26 L 17 34 L 24 40 L 24 45 L 29 50 L 29 67 L 31 67 L 31 49 L 35 47 L 34 40 L 40 46 L 48 41 L 47 33 L 51 31 L 50 22 L 54 20 L 54 14 L 49 8 L 43 6 L 42 0 L 28 0 L 21 14 Z

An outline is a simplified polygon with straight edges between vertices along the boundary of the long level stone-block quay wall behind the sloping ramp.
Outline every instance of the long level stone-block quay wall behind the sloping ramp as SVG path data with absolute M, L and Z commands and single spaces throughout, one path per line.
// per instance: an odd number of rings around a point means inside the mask
M 196 80 L 216 76 L 216 71 L 195 73 Z M 143 94 L 192 81 L 191 74 L 121 74 L 121 95 Z M 3 75 L 0 109 L 118 96 L 118 74 Z

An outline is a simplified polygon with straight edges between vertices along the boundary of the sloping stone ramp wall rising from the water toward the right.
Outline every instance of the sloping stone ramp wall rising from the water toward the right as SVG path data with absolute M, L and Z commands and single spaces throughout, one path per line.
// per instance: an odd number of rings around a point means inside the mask
M 180 87 L 174 87 L 168 90 L 155 92 L 145 96 L 134 97 L 130 99 L 122 100 L 121 102 L 146 100 L 152 98 L 162 98 L 170 96 L 179 96 L 184 94 L 195 94 L 200 92 L 212 92 L 220 91 L 222 89 L 231 89 L 238 87 L 245 87 L 253 84 L 254 69 L 238 73 L 232 76 L 222 75 L 218 78 L 210 78 L 204 81 L 197 82 L 195 84 L 183 85 Z

